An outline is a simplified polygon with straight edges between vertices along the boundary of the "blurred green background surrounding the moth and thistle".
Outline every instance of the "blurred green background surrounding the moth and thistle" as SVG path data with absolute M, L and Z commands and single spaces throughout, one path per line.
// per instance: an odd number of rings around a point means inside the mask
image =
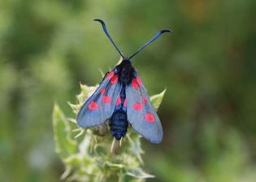
M 160 145 L 143 141 L 149 181 L 256 181 L 254 0 L 0 1 L 0 181 L 59 181 L 54 102 L 69 115 L 79 82 L 95 85 L 124 54 L 158 111 Z

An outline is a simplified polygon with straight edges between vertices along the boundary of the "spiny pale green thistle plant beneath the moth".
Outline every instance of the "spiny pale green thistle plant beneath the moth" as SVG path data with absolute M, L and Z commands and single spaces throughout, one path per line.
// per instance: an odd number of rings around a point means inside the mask
M 81 85 L 76 96 L 77 104 L 68 102 L 77 115 L 80 107 L 93 93 L 96 86 Z M 150 97 L 157 110 L 162 93 Z M 65 171 L 61 176 L 67 181 L 145 181 L 153 175 L 145 172 L 141 154 L 141 136 L 128 128 L 122 144 L 113 143 L 108 121 L 95 128 L 78 128 L 75 118 L 67 118 L 58 104 L 54 105 L 53 127 L 55 151 L 61 158 Z M 111 151 L 111 145 L 114 144 Z

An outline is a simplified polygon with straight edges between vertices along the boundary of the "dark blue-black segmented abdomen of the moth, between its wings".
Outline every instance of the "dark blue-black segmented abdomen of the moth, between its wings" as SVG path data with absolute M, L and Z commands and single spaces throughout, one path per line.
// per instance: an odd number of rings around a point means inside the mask
M 126 112 L 122 109 L 117 110 L 113 113 L 110 120 L 111 135 L 116 140 L 120 140 L 125 136 L 128 128 L 128 121 Z

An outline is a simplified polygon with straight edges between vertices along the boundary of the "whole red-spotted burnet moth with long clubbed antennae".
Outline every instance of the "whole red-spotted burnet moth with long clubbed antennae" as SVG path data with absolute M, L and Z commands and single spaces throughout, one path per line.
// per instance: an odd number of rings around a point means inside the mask
M 141 78 L 132 67 L 131 58 L 164 32 L 171 31 L 167 29 L 159 31 L 134 54 L 125 57 L 107 32 L 105 23 L 98 19 L 95 21 L 102 24 L 106 37 L 115 46 L 123 60 L 111 72 L 106 73 L 98 89 L 85 101 L 77 115 L 77 124 L 81 128 L 89 128 L 109 120 L 111 135 L 116 140 L 125 137 L 130 124 L 148 141 L 160 143 L 163 138 L 160 119 L 150 102 Z

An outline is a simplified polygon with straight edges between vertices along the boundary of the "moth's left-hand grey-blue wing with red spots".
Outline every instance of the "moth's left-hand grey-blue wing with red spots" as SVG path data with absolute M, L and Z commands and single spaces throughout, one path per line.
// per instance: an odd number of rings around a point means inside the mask
M 104 123 L 111 117 L 115 103 L 121 92 L 118 75 L 111 71 L 102 80 L 98 89 L 90 96 L 78 112 L 76 121 L 81 128 L 88 128 Z

